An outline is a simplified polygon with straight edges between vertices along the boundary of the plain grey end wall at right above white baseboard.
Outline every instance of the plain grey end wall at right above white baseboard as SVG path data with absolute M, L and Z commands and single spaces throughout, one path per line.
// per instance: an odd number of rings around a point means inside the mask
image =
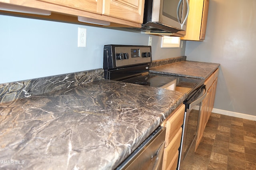
M 187 60 L 220 63 L 216 109 L 256 116 L 255 8 L 255 0 L 210 0 L 206 39 L 186 43 Z

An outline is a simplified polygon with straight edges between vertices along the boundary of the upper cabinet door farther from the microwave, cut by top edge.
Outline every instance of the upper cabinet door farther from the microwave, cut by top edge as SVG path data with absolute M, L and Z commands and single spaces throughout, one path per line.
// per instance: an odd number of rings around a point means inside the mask
M 86 12 L 92 12 L 96 14 L 102 14 L 103 0 L 39 0 L 65 6 L 68 8 L 74 8 Z

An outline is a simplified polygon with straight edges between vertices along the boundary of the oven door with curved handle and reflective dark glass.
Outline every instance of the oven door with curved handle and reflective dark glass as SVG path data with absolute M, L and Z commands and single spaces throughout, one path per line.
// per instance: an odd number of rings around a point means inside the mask
M 184 164 L 184 160 L 188 155 L 190 150 L 195 149 L 196 138 L 198 134 L 198 125 L 201 116 L 201 104 L 202 100 L 207 95 L 206 86 L 202 86 L 204 90 L 200 91 L 198 96 L 195 98 L 193 102 L 185 103 L 186 111 L 184 117 L 183 124 L 183 137 L 182 137 L 182 148 L 181 148 L 181 156 L 180 156 L 180 169 L 182 170 L 182 165 Z M 193 96 L 192 96 L 193 98 Z

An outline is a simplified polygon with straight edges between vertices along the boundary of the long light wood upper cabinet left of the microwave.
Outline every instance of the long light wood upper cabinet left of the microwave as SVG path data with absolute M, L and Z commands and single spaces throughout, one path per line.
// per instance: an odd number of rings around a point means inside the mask
M 81 16 L 110 22 L 112 27 L 140 28 L 143 22 L 144 2 L 145 0 L 0 0 L 0 6 L 8 4 L 10 8 L 20 6 L 48 10 L 52 15 L 36 17 L 52 20 L 78 22 L 78 16 Z M 23 15 L 31 16 L 24 13 Z

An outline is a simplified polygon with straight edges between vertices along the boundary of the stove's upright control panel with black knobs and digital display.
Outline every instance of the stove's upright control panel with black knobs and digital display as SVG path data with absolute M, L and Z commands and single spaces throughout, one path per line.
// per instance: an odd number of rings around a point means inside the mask
M 120 68 L 152 62 L 151 46 L 106 45 L 104 69 Z

